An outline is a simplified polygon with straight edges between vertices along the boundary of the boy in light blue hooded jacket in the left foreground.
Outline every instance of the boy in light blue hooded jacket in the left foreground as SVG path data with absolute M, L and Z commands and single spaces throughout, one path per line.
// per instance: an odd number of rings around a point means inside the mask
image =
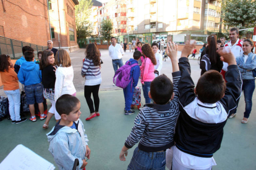
M 58 54 L 57 54 L 58 55 Z M 56 102 L 56 110 L 61 119 L 47 135 L 49 152 L 53 155 L 59 169 L 72 169 L 75 158 L 79 159 L 79 169 L 85 169 L 90 159 L 87 134 L 79 119 L 81 103 L 77 97 L 64 94 Z

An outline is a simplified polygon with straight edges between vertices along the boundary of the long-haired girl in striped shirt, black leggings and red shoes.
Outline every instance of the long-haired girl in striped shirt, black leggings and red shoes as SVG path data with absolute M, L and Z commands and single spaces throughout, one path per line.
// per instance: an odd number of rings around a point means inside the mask
M 85 77 L 85 99 L 90 109 L 90 116 L 85 120 L 90 120 L 95 116 L 100 116 L 99 106 L 100 98 L 98 95 L 100 84 L 101 84 L 101 73 L 100 73 L 100 51 L 95 44 L 88 44 L 85 51 L 85 60 L 83 62 L 83 68 L 81 75 Z M 94 106 L 91 95 L 93 94 Z

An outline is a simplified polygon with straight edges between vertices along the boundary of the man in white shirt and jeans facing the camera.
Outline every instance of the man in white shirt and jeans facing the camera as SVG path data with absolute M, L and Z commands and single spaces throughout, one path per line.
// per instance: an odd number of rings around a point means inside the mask
M 122 62 L 122 56 L 124 55 L 124 49 L 122 49 L 122 46 L 120 44 L 116 44 L 116 38 L 111 37 L 111 45 L 108 48 L 109 57 L 112 59 L 112 64 L 114 68 L 114 73 L 116 73 L 116 70 L 118 67 L 122 67 L 124 63 Z

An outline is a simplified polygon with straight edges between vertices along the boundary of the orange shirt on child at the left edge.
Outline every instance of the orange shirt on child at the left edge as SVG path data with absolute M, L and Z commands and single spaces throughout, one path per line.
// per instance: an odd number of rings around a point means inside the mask
M 14 71 L 14 68 L 9 68 L 8 71 L 0 71 L 2 84 L 4 85 L 4 91 L 14 91 L 19 89 L 18 76 Z

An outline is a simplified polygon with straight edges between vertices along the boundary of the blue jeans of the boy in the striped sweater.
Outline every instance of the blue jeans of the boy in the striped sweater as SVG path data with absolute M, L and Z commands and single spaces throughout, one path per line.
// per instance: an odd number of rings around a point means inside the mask
M 165 170 L 165 156 L 166 151 L 143 152 L 142 150 L 139 150 L 138 147 L 136 147 L 127 170 Z

